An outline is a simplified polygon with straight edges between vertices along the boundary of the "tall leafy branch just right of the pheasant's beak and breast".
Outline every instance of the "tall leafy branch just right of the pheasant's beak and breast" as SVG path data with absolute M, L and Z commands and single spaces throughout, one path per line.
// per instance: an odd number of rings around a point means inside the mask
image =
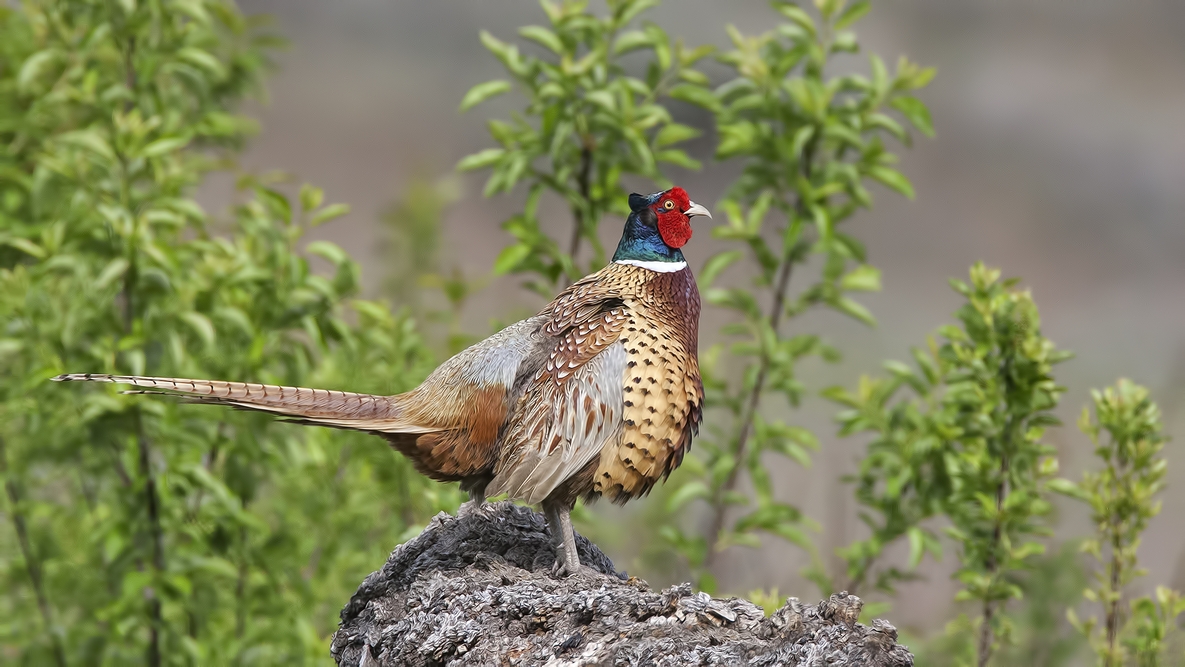
M 869 11 L 869 2 L 819 1 L 814 13 L 793 2 L 773 7 L 784 19 L 775 30 L 747 37 L 729 28 L 734 50 L 719 60 L 736 77 L 705 104 L 716 115 L 717 159 L 738 159 L 743 165 L 720 206 L 726 223 L 713 236 L 741 249 L 711 257 L 699 281 L 713 286 L 747 255 L 756 272 L 751 288 L 705 291 L 707 303 L 731 310 L 737 320 L 723 329 L 725 336 L 742 338 L 703 355 L 715 427 L 700 441 L 700 463 L 678 476 L 680 487 L 668 501 L 671 512 L 693 500 L 707 505 L 706 530 L 699 535 L 677 526 L 664 532 L 706 589 L 715 586 L 719 553 L 734 544 L 758 544 L 757 533 L 782 537 L 813 552 L 803 530 L 811 522 L 796 507 L 775 499 L 764 455 L 775 453 L 807 466 L 818 438 L 803 428 L 764 419 L 762 409 L 770 395 L 798 405 L 805 391 L 796 378 L 798 361 L 811 355 L 834 360 L 838 352 L 816 335 L 787 336 L 781 329 L 787 319 L 816 306 L 875 322 L 848 294 L 879 289 L 879 271 L 867 264 L 863 244 L 841 225 L 871 206 L 867 181 L 912 197 L 884 143 L 895 139 L 909 145 L 910 134 L 886 111 L 896 109 L 916 129 L 933 134 L 925 107 L 912 96 L 927 85 L 933 70 L 903 58 L 890 76 L 880 58 L 871 56 L 871 78 L 825 76 L 835 57 L 859 50 L 846 28 Z M 795 267 L 813 256 L 824 257 L 821 275 L 792 295 Z M 769 306 L 763 308 L 760 303 L 766 300 Z M 719 372 L 725 352 L 743 361 L 739 379 Z M 755 498 L 739 490 L 745 477 Z M 743 513 L 730 521 L 738 509 Z

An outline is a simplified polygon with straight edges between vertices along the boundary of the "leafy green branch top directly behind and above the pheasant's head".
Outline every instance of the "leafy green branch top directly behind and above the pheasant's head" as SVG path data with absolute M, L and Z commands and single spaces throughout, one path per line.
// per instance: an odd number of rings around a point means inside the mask
M 699 130 L 674 122 L 664 101 L 711 98 L 704 88 L 707 78 L 693 66 L 712 49 L 687 49 L 658 25 L 638 25 L 638 17 L 656 6 L 655 0 L 609 0 L 604 17 L 590 14 L 587 1 L 543 0 L 540 5 L 549 27 L 526 26 L 519 34 L 542 47 L 542 56 L 481 33 L 482 44 L 512 81 L 473 86 L 461 110 L 510 92 L 515 84 L 526 107 L 510 122 L 489 121 L 489 134 L 499 146 L 465 158 L 457 168 L 489 168 L 487 197 L 526 184 L 523 211 L 502 223 L 514 243 L 502 250 L 494 269 L 538 276 L 542 280 L 527 286 L 550 297 L 557 283 L 588 272 L 578 261 L 584 242 L 592 246 L 588 267 L 595 270 L 604 263 L 596 230 L 604 216 L 629 213 L 623 177 L 666 184 L 661 162 L 699 168 L 698 161 L 675 147 Z M 645 76 L 630 76 L 624 60 L 641 56 Z M 539 225 L 539 200 L 545 192 L 571 211 L 566 245 Z

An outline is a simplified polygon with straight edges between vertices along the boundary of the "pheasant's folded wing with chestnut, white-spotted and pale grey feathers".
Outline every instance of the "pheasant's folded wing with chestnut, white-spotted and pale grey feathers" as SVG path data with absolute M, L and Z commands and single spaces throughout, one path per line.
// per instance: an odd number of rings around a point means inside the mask
M 627 355 L 619 339 L 629 315 L 596 277 L 545 310 L 546 361 L 520 376 L 525 385 L 501 438 L 489 495 L 542 502 L 621 432 Z

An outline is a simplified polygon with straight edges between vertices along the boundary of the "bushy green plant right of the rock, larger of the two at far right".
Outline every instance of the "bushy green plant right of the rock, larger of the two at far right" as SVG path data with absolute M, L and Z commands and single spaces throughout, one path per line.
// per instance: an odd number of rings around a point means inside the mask
M 1052 367 L 1068 359 L 1040 334 L 1037 307 L 1016 281 L 982 264 L 971 281 L 952 281 L 966 303 L 961 327 L 939 329 L 928 351 L 915 349 L 917 371 L 890 361 L 888 379 L 861 379 L 856 392 L 831 389 L 827 396 L 847 410 L 841 434 L 872 432 L 867 456 L 856 475 L 857 500 L 871 512 L 861 518 L 871 537 L 840 551 L 852 585 L 872 576 L 892 590 L 925 553 L 941 546 L 924 521 L 946 515 L 947 533 L 959 546 L 955 599 L 978 605 L 975 660 L 987 665 L 1008 639 L 1003 614 L 1023 589 L 1048 534 L 1048 489 L 1057 472 L 1044 429 L 1057 424 L 1052 410 L 1064 391 Z M 910 397 L 896 395 L 909 389 Z M 875 565 L 897 539 L 910 545 L 909 570 Z

